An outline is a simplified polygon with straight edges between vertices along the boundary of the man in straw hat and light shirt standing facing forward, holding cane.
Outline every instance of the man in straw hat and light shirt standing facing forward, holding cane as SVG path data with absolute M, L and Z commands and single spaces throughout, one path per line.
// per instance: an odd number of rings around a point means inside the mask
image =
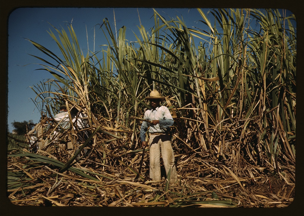
M 167 107 L 160 105 L 164 97 L 157 90 L 150 92 L 150 109 L 144 114 L 144 119 L 152 121 L 148 123 L 143 121 L 140 127 L 140 139 L 142 146 L 147 146 L 146 132 L 149 128 L 150 139 L 150 178 L 155 181 L 161 180 L 160 153 L 164 162 L 166 174 L 170 173 L 170 183 L 177 182 L 176 166 L 174 164 L 174 153 L 171 146 L 171 136 L 169 135 L 170 126 L 174 121 Z

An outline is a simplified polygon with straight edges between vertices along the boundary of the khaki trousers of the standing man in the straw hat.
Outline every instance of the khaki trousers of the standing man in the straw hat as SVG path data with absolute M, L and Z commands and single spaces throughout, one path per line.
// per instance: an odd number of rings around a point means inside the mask
M 150 134 L 150 178 L 154 181 L 161 180 L 161 156 L 164 162 L 166 174 L 171 168 L 170 183 L 177 182 L 176 166 L 174 164 L 174 153 L 171 146 L 171 136 L 168 134 Z

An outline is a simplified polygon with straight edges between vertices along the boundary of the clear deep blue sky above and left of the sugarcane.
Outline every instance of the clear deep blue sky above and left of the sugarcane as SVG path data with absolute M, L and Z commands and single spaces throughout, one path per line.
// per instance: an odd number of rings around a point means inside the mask
M 197 9 L 156 9 L 167 20 L 170 18 L 183 17 L 187 27 L 201 27 L 197 21 L 201 15 Z M 208 11 L 207 9 L 205 11 Z M 126 39 L 134 41 L 134 33 L 139 35 L 138 27 L 141 24 L 148 31 L 154 26 L 154 11 L 152 8 L 114 8 L 116 30 L 126 26 Z M 140 15 L 140 21 L 138 14 Z M 35 92 L 29 87 L 40 83 L 40 81 L 53 78 L 47 71 L 36 70 L 41 68 L 40 62 L 35 57 L 42 56 L 28 40 L 45 46 L 55 54 L 60 51 L 47 31 L 54 32 L 53 25 L 57 29 L 62 27 L 67 30 L 67 23 L 72 23 L 78 41 L 84 52 L 87 52 L 87 36 L 89 49 L 94 46 L 94 27 L 95 27 L 95 51 L 101 50 L 100 45 L 107 44 L 102 30 L 98 24 L 107 18 L 114 26 L 113 8 L 18 8 L 9 15 L 8 22 L 8 126 L 12 132 L 12 122 L 23 122 L 33 120 L 37 123 L 40 118 L 39 110 L 35 109 L 33 101 Z M 51 25 L 50 25 L 51 24 Z M 134 33 L 133 33 L 134 31 Z M 55 33 L 55 32 L 54 32 Z M 55 33 L 55 35 L 57 35 Z

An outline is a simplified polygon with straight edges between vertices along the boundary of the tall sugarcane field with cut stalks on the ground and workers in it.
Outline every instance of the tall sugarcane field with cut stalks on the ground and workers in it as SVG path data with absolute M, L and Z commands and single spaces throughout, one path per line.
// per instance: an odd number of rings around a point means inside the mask
M 94 51 L 83 50 L 72 22 L 46 29 L 60 52 L 27 40 L 41 51 L 36 69 L 53 78 L 31 87 L 40 121 L 7 135 L 12 204 L 292 204 L 295 16 L 193 9 L 202 29 L 153 12 L 154 26 L 139 25 L 132 42 L 128 26 L 102 17 L 94 37 L 108 44 Z

